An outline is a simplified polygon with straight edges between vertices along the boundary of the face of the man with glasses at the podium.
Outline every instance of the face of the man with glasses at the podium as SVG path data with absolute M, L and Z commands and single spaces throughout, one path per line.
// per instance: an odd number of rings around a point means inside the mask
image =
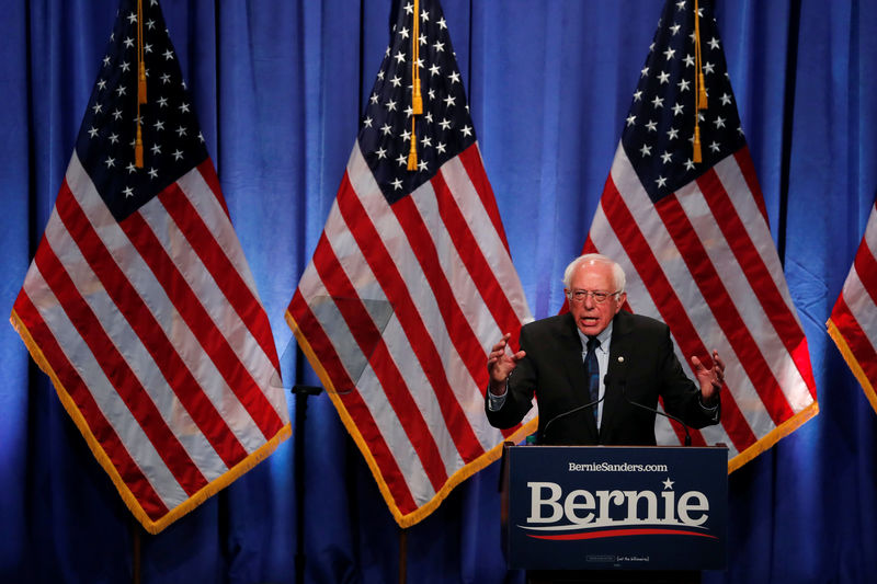
M 576 293 L 614 293 L 612 266 L 600 262 L 580 264 L 572 274 L 570 288 L 566 290 L 569 299 L 569 311 L 576 319 L 576 325 L 584 334 L 594 336 L 608 327 L 613 317 L 622 309 L 627 295 L 625 293 L 608 296 L 597 302 L 592 295 L 585 295 L 581 302 L 574 298 Z

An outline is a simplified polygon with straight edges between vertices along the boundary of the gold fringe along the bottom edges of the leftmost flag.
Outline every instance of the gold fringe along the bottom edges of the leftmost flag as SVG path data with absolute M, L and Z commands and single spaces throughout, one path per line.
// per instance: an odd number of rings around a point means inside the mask
M 113 462 L 110 460 L 110 456 L 106 451 L 101 447 L 101 444 L 94 437 L 89 427 L 88 422 L 86 421 L 82 413 L 79 411 L 73 399 L 67 392 L 67 389 L 61 383 L 60 379 L 58 378 L 55 370 L 49 365 L 46 356 L 43 354 L 43 351 L 34 341 L 31 332 L 27 330 L 27 327 L 21 320 L 19 314 L 13 310 L 12 314 L 10 316 L 10 322 L 12 323 L 12 328 L 19 333 L 21 340 L 24 342 L 24 345 L 27 347 L 27 351 L 31 353 L 34 362 L 36 362 L 37 366 L 52 379 L 52 383 L 55 386 L 55 391 L 58 394 L 58 398 L 64 405 L 64 409 L 67 411 L 67 414 L 76 424 L 79 432 L 82 434 L 82 437 L 86 438 L 86 443 L 89 446 L 89 449 L 94 455 L 94 458 L 103 467 L 104 471 L 110 476 L 110 479 L 113 481 L 113 484 L 116 486 L 119 496 L 125 502 L 125 506 L 132 512 L 132 514 L 140 522 L 140 525 L 144 526 L 149 534 L 156 535 L 159 534 L 162 529 L 168 527 L 170 524 L 186 515 L 189 512 L 204 503 L 207 499 L 216 494 L 217 492 L 221 491 L 236 479 L 238 479 L 241 474 L 246 473 L 248 470 L 252 469 L 255 465 L 264 460 L 269 455 L 271 455 L 277 446 L 292 436 L 293 426 L 292 423 L 287 423 L 284 425 L 270 440 L 267 440 L 264 445 L 262 445 L 259 449 L 253 451 L 247 458 L 228 469 L 226 472 L 204 485 L 198 492 L 194 493 L 192 496 L 170 509 L 167 514 L 164 514 L 159 519 L 151 519 L 146 512 L 144 511 L 140 503 L 137 501 L 137 497 L 134 496 L 134 493 L 130 492 L 128 485 L 125 484 L 125 481 L 122 479 L 122 476 L 116 470 Z

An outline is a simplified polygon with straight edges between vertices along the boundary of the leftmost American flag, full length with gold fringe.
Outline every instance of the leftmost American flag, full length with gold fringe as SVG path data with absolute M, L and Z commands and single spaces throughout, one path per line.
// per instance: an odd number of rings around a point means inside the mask
M 152 534 L 291 434 L 267 317 L 156 1 L 141 15 L 121 3 L 11 320 Z

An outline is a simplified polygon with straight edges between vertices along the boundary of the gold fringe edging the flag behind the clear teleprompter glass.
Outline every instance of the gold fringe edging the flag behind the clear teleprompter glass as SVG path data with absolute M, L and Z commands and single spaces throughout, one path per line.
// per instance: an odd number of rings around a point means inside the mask
M 417 509 L 403 514 L 396 501 L 392 497 L 392 493 L 390 493 L 390 489 L 387 485 L 386 481 L 380 474 L 380 469 L 377 466 L 377 461 L 375 460 L 374 456 L 372 456 L 371 450 L 368 449 L 368 445 L 365 438 L 363 438 L 362 434 L 360 434 L 356 424 L 353 422 L 353 419 L 348 413 L 346 408 L 341 402 L 341 398 L 338 396 L 338 392 L 332 385 L 332 380 L 329 377 L 329 374 L 322 367 L 317 354 L 314 352 L 314 348 L 308 343 L 307 339 L 305 337 L 301 329 L 299 329 L 298 324 L 296 323 L 295 319 L 293 318 L 289 311 L 286 311 L 286 322 L 289 328 L 293 330 L 296 340 L 298 341 L 298 346 L 301 348 L 301 352 L 307 357 L 308 362 L 310 363 L 314 370 L 317 373 L 317 376 L 323 383 L 326 392 L 329 394 L 329 399 L 332 400 L 332 404 L 335 406 L 338 411 L 338 415 L 341 417 L 341 422 L 344 424 L 344 427 L 348 430 L 351 438 L 356 444 L 356 447 L 365 458 L 366 465 L 368 465 L 368 469 L 372 471 L 372 476 L 375 478 L 375 482 L 377 482 L 378 490 L 380 491 L 384 501 L 387 503 L 387 506 L 390 509 L 390 514 L 392 514 L 392 518 L 396 519 L 396 523 L 401 528 L 411 527 L 426 518 L 432 512 L 438 508 L 438 505 L 447 497 L 451 491 L 454 490 L 459 483 L 478 472 L 487 468 L 491 462 L 498 460 L 502 457 L 502 446 L 503 443 L 498 444 L 483 455 L 479 456 L 465 467 L 457 470 L 454 474 L 447 478 L 447 482 L 426 503 L 419 506 Z M 536 431 L 538 425 L 538 419 L 534 417 L 520 428 L 517 428 L 511 436 L 505 438 L 505 442 L 514 442 L 519 443 L 523 440 L 527 435 L 533 434 Z

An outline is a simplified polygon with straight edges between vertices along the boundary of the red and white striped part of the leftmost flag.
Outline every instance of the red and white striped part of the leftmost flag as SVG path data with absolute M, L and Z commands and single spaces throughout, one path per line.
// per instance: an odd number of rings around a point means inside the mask
M 289 433 L 209 160 L 118 222 L 73 152 L 13 321 L 152 533 Z

